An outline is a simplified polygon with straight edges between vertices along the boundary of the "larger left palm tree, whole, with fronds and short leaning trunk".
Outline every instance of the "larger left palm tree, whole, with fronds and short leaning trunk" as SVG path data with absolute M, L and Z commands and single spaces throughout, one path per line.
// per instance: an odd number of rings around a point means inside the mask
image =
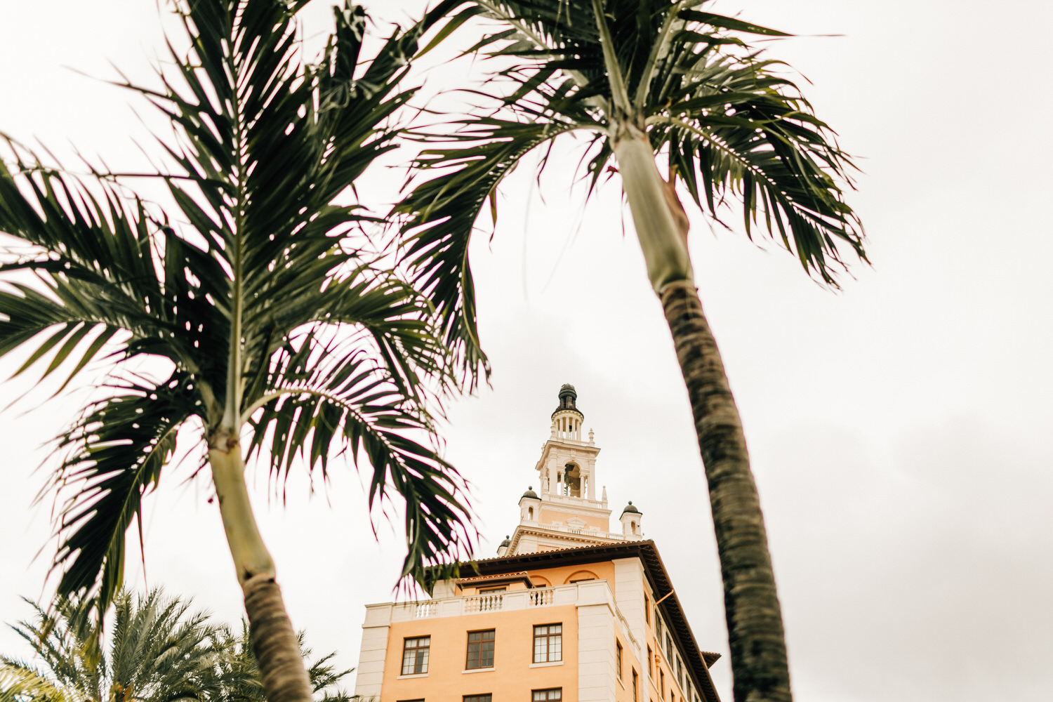
M 431 412 L 453 380 L 432 308 L 369 253 L 370 218 L 350 192 L 395 147 L 392 116 L 413 95 L 399 81 L 445 8 L 366 61 L 364 13 L 345 4 L 321 57 L 303 63 L 306 4 L 174 2 L 188 49 L 171 49 L 160 88 L 125 84 L 174 127 L 162 142 L 174 172 L 153 174 L 170 205 L 135 195 L 136 174 L 76 178 L 11 140 L 0 163 L 0 234 L 23 246 L 0 253 L 0 356 L 25 349 L 19 372 L 51 358 L 44 376 L 72 366 L 63 387 L 95 359 L 110 366 L 56 444 L 59 595 L 86 598 L 101 621 L 142 498 L 177 436 L 193 436 L 271 702 L 306 702 L 311 687 L 247 458 L 278 480 L 294 460 L 324 477 L 336 452 L 372 466 L 371 504 L 405 500 L 405 577 L 474 536 L 462 480 L 434 440 Z

